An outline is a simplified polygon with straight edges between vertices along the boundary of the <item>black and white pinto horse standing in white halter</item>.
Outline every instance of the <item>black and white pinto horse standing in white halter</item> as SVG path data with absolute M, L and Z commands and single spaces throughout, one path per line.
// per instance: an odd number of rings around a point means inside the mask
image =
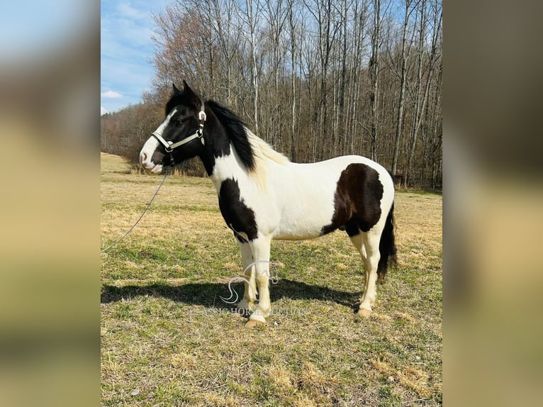
M 245 294 L 237 304 L 240 310 L 254 310 L 247 326 L 265 323 L 271 311 L 271 240 L 310 239 L 337 229 L 347 232 L 362 255 L 366 284 L 358 313 L 371 315 L 376 281 L 396 262 L 394 184 L 384 167 L 357 155 L 290 162 L 228 108 L 202 101 L 186 82 L 183 91 L 174 84 L 165 116 L 143 145 L 140 163 L 159 173 L 164 165 L 196 156 L 202 160 L 248 267 Z

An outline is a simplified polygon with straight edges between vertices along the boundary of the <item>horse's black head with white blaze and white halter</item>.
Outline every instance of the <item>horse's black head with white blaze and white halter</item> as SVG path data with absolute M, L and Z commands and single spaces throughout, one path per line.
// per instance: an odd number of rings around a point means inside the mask
M 164 165 L 176 165 L 203 152 L 203 101 L 183 81 L 184 89 L 175 87 L 166 104 L 164 121 L 140 151 L 140 164 L 150 172 L 162 172 Z

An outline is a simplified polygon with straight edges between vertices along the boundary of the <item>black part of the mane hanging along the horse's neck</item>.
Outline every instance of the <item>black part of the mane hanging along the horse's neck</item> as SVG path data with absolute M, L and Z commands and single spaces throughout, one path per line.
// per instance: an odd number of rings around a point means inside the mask
M 216 101 L 206 101 L 206 105 L 211 108 L 220 124 L 226 131 L 230 143 L 234 146 L 238 157 L 249 171 L 255 167 L 254 154 L 251 143 L 245 132 L 245 123 L 225 106 Z

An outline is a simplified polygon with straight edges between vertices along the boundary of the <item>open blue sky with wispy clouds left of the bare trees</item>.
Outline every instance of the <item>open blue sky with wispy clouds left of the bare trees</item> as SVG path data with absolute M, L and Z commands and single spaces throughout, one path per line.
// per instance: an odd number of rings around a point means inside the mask
M 100 114 L 138 104 L 151 89 L 152 13 L 173 0 L 101 0 Z

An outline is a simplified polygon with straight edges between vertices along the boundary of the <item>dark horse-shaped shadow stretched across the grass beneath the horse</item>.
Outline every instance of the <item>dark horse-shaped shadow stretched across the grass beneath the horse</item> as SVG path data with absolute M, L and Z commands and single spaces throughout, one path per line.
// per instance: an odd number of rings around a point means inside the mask
M 241 299 L 243 296 L 242 284 L 233 284 L 232 289 Z M 314 286 L 301 281 L 280 279 L 276 284 L 270 284 L 271 302 L 279 299 L 316 299 L 320 301 L 333 301 L 352 308 L 357 303 L 360 292 L 346 292 L 330 289 L 323 286 Z M 153 296 L 171 299 L 186 304 L 201 305 L 214 308 L 232 307 L 220 299 L 230 297 L 227 283 L 189 283 L 173 286 L 167 283 L 154 283 L 147 286 L 103 286 L 100 296 L 101 303 L 112 303 L 121 299 L 130 299 L 135 296 Z

